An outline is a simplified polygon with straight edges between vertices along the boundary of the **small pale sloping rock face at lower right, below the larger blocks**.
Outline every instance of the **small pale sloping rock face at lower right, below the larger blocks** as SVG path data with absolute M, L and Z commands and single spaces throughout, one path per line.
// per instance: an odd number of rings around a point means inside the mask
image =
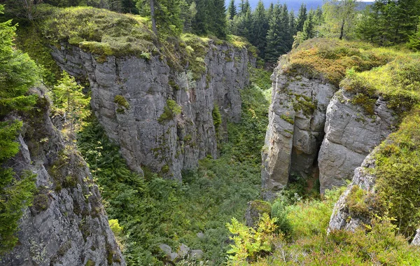
M 335 203 L 334 209 L 331 214 L 330 224 L 327 232 L 331 230 L 350 230 L 354 231 L 356 228 L 363 225 L 363 223 L 370 223 L 369 217 L 360 215 L 350 214 L 349 207 L 347 206 L 347 198 L 354 186 L 374 193 L 374 182 L 376 176 L 370 174 L 369 169 L 374 168 L 374 159 L 372 158 L 374 151 L 368 155 L 363 164 L 354 170 L 353 181 L 347 186 L 346 190 L 339 197 L 339 200 Z

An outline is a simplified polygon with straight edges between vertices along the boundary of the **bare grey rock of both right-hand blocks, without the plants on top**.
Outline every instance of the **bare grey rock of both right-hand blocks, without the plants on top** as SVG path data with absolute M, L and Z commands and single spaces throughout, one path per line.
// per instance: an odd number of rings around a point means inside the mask
M 283 57 L 272 75 L 272 104 L 262 151 L 265 199 L 274 197 L 293 176 L 319 175 L 321 193 L 344 185 L 395 123 L 383 98 L 377 97 L 367 112 L 356 93 L 299 71 L 285 73 L 287 60 Z

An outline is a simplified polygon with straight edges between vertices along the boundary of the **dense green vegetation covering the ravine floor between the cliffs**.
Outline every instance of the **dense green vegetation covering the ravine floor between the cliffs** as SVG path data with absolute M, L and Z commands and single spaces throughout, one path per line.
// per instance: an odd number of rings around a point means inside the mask
M 162 265 L 162 243 L 174 250 L 181 243 L 202 249 L 210 265 L 225 261 L 230 242 L 225 223 L 232 217 L 243 221 L 246 203 L 260 193 L 260 149 L 268 110 L 263 92 L 256 85 L 241 92 L 242 120 L 228 125 L 221 157 L 200 161 L 198 169 L 183 173 L 182 183 L 147 169 L 144 178 L 134 174 L 94 118 L 83 129 L 79 149 L 101 188 L 113 228 L 123 228 L 117 235 L 129 265 Z M 204 236 L 197 237 L 199 232 Z

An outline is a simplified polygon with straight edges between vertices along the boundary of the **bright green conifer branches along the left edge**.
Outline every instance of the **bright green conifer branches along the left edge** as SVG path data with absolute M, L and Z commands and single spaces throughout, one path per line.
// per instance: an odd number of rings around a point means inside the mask
M 0 14 L 3 6 L 0 5 Z M 23 211 L 31 205 L 36 175 L 16 174 L 3 164 L 19 151 L 18 137 L 22 122 L 3 120 L 11 111 L 29 111 L 37 96 L 28 95 L 38 80 L 38 69 L 27 54 L 13 47 L 15 26 L 0 23 L 0 254 L 10 251 L 18 242 L 15 232 Z

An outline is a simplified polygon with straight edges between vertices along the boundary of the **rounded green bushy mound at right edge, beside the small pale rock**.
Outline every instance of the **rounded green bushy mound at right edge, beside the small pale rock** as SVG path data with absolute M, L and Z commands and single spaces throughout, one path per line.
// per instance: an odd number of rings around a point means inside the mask
M 420 111 L 414 109 L 379 148 L 376 158 L 377 193 L 395 217 L 400 232 L 408 237 L 419 226 Z

